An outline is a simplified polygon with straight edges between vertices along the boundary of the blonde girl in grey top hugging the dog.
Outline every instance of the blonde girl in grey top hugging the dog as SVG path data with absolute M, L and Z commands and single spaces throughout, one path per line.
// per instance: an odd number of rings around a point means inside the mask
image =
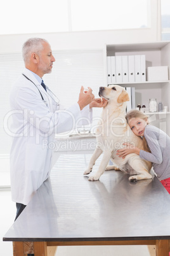
M 142 159 L 152 162 L 154 171 L 162 185 L 170 194 L 170 138 L 159 128 L 148 124 L 148 116 L 138 110 L 131 110 L 126 120 L 136 136 L 143 138 L 145 150 L 124 143 L 125 148 L 117 150 L 119 157 L 126 157 L 129 153 L 136 153 Z

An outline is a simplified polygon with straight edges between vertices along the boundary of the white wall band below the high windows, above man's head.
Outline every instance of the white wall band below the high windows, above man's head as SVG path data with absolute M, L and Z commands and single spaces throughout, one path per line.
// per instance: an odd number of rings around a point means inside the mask
M 160 0 L 150 0 L 150 4 L 147 29 L 1 35 L 0 53 L 20 52 L 23 42 L 30 37 L 47 39 L 52 50 L 101 49 L 105 44 L 160 41 Z

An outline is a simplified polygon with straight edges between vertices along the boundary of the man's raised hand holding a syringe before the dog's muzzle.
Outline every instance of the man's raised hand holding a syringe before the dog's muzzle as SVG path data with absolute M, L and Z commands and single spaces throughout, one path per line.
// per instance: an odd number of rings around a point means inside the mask
M 84 92 L 84 87 L 81 87 L 81 92 L 79 94 L 79 100 L 77 103 L 80 106 L 80 109 L 82 110 L 85 106 L 90 104 L 93 99 L 95 99 L 94 94 L 92 93 L 92 89 L 88 87 L 88 91 Z

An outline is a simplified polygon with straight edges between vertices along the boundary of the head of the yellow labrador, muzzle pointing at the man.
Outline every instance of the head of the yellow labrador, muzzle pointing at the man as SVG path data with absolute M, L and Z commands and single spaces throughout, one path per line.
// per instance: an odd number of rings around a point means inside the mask
M 107 99 L 107 101 L 114 101 L 117 103 L 124 103 L 129 101 L 128 92 L 119 85 L 108 85 L 108 87 L 100 87 L 98 95 Z

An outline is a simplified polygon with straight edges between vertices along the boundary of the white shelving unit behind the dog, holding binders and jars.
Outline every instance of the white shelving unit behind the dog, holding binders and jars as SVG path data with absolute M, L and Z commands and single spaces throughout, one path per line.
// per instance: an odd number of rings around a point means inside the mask
M 134 44 L 119 44 L 119 45 L 106 45 L 106 60 L 108 56 L 123 56 L 123 55 L 145 55 L 146 69 L 148 67 L 156 66 L 168 66 L 170 70 L 170 42 L 155 42 L 155 43 L 134 43 Z M 106 65 L 107 66 L 107 65 Z M 106 71 L 106 84 L 107 83 Z M 147 77 L 147 76 L 146 76 Z M 168 77 L 169 74 L 168 74 Z M 122 87 L 134 87 L 135 88 L 135 101 L 137 104 L 145 104 L 148 108 L 150 98 L 157 99 L 157 103 L 160 101 L 164 106 L 167 106 L 167 110 L 170 111 L 170 83 L 167 81 L 156 82 L 131 82 L 131 83 L 116 83 Z M 161 115 L 159 113 L 151 114 L 151 120 L 154 125 L 160 127 L 170 136 L 170 113 Z

